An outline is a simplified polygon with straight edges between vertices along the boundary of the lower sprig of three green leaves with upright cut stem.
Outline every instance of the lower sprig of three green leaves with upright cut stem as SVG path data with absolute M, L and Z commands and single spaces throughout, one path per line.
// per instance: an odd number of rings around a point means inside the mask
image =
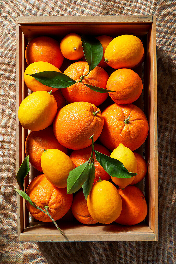
M 92 158 L 93 152 L 95 153 L 97 161 L 110 176 L 116 178 L 131 178 L 138 175 L 137 173 L 129 172 L 124 167 L 123 163 L 117 159 L 111 158 L 98 152 L 97 150 L 94 150 L 94 135 L 92 135 L 89 139 L 92 140 L 91 157 L 88 161 L 73 169 L 67 178 L 67 194 L 72 194 L 78 191 L 82 186 L 86 200 L 92 189 L 95 178 L 95 166 Z

